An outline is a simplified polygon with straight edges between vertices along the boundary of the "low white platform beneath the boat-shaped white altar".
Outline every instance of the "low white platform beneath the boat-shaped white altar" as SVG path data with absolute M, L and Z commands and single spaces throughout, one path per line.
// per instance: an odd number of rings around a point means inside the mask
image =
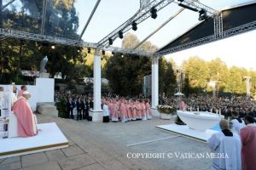
M 181 134 L 184 137 L 188 137 L 190 139 L 196 139 L 201 142 L 206 142 L 213 133 L 218 133 L 216 130 L 207 129 L 205 132 L 200 132 L 194 129 L 189 128 L 186 125 L 177 125 L 177 124 L 168 124 L 168 125 L 159 125 L 156 126 L 161 130 L 166 130 L 171 133 Z

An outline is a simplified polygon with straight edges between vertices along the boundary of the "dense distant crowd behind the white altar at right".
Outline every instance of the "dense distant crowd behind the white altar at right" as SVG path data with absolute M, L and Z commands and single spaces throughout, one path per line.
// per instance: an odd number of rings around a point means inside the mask
M 218 112 L 225 117 L 230 117 L 232 111 L 237 111 L 240 117 L 247 115 L 256 117 L 256 102 L 247 97 L 219 97 L 207 96 L 182 97 L 187 111 L 209 111 Z M 177 108 L 180 99 L 178 97 L 160 98 L 161 105 L 170 105 Z

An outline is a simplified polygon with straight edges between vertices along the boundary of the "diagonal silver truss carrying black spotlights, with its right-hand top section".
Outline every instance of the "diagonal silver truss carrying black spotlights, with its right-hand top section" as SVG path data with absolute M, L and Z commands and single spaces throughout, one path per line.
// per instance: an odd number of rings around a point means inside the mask
M 154 0 L 150 3 L 146 3 L 146 5 L 142 6 L 136 14 L 134 14 L 129 20 L 126 20 L 125 23 L 123 23 L 121 26 L 116 28 L 114 31 L 112 31 L 108 36 L 104 37 L 101 41 L 97 42 L 97 48 L 106 47 L 108 46 L 108 40 L 111 38 L 112 40 L 115 40 L 117 37 L 119 37 L 119 31 L 122 31 L 125 33 L 126 31 L 131 30 L 131 23 L 136 22 L 137 25 L 143 22 L 143 20 L 148 19 L 150 17 L 150 9 L 155 8 L 157 11 L 160 11 L 160 9 L 165 8 L 170 3 L 182 3 L 183 5 L 195 8 L 196 10 L 200 11 L 201 9 L 204 9 L 209 16 L 215 16 L 218 15 L 218 11 L 207 7 L 206 5 L 199 3 L 197 0 Z

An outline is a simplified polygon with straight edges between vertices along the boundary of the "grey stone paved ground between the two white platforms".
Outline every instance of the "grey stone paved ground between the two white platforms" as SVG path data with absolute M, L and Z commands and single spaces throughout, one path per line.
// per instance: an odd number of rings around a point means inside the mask
M 66 135 L 69 147 L 0 159 L 0 170 L 211 169 L 211 159 L 176 156 L 206 155 L 210 151 L 207 144 L 155 128 L 173 120 L 154 117 L 150 121 L 102 123 L 38 115 L 38 122 L 56 122 Z M 131 156 L 131 153 L 158 153 L 159 159 L 128 158 L 127 154 Z

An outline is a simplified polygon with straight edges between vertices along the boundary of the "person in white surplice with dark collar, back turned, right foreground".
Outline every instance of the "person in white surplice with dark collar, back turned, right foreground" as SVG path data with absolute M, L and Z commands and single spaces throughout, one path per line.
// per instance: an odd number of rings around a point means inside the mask
M 221 131 L 212 134 L 207 140 L 214 155 L 212 169 L 241 170 L 241 139 L 237 133 L 231 132 L 232 122 L 225 119 L 219 122 Z

